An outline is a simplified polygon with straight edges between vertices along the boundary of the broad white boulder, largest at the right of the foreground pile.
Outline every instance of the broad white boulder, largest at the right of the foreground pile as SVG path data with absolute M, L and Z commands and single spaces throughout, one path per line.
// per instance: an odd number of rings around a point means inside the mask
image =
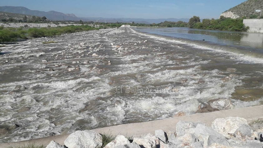
M 218 118 L 212 122 L 212 129 L 224 135 L 227 139 L 230 139 L 231 137 L 234 137 L 234 133 L 236 132 L 236 130 L 243 125 L 248 125 L 247 120 L 244 118 Z

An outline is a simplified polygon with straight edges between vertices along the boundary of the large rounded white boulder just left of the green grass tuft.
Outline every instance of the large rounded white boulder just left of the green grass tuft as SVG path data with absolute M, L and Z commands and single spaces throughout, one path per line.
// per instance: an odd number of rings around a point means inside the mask
M 68 148 L 100 148 L 102 136 L 92 130 L 77 130 L 64 141 Z

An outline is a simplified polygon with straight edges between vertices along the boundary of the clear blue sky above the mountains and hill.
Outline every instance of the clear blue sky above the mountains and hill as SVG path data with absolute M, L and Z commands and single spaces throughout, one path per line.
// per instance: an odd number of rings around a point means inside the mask
M 0 0 L 0 6 L 103 18 L 218 18 L 246 0 Z

